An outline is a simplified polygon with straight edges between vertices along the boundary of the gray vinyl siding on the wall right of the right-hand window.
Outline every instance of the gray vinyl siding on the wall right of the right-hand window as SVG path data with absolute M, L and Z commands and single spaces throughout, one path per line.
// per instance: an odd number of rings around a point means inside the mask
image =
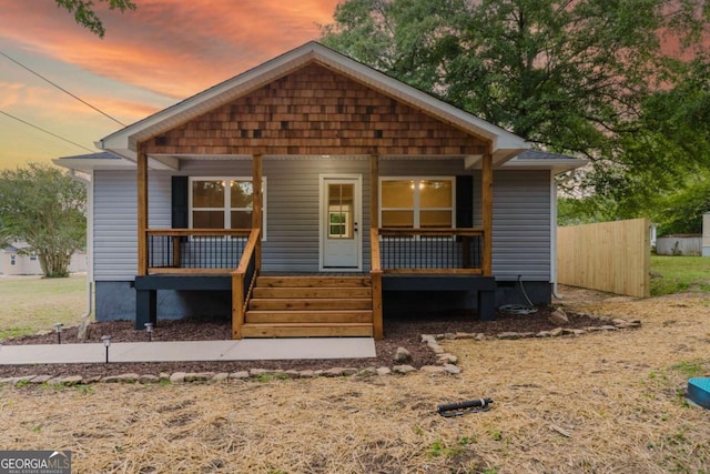
M 550 172 L 495 171 L 493 274 L 497 280 L 551 280 Z M 474 223 L 480 225 L 480 173 L 474 178 Z

